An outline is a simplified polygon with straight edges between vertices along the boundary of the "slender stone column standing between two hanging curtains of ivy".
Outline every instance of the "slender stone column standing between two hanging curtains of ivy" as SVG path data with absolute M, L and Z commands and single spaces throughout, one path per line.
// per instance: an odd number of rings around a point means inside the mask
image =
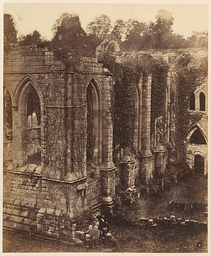
M 143 76 L 142 83 L 142 150 L 141 177 L 143 183 L 152 174 L 152 153 L 150 151 L 151 75 Z

